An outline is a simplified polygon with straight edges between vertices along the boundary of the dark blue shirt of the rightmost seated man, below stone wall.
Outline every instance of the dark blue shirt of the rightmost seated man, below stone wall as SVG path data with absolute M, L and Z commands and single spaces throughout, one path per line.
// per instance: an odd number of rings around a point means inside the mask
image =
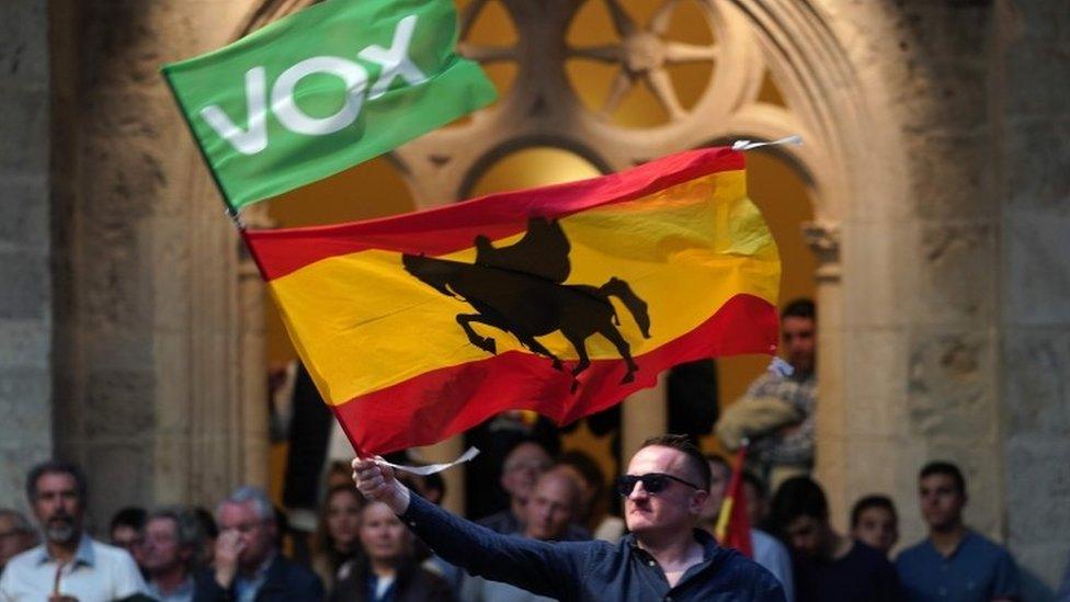
M 896 569 L 907 600 L 987 602 L 1021 595 L 1018 571 L 1010 553 L 972 531 L 966 532 L 946 558 L 926 537 L 899 554 Z

